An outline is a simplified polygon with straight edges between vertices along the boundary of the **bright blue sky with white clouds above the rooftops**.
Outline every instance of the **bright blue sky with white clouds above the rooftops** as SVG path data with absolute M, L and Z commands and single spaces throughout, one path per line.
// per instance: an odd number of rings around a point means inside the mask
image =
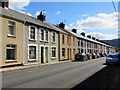
M 20 2 L 21 1 L 21 2 Z M 117 3 L 114 2 L 116 11 Z M 118 38 L 117 12 L 112 2 L 31 2 L 12 0 L 10 8 L 32 17 L 45 10 L 46 21 L 51 24 L 64 22 L 66 29 L 77 29 L 100 40 Z

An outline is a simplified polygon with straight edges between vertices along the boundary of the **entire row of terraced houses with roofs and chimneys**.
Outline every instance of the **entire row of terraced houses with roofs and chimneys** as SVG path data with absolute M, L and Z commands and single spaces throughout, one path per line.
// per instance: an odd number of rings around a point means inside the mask
M 11 10 L 9 2 L 0 2 L 0 36 L 0 67 L 73 60 L 78 52 L 115 52 L 85 33 L 66 30 L 63 22 L 47 23 L 42 12 L 34 18 Z

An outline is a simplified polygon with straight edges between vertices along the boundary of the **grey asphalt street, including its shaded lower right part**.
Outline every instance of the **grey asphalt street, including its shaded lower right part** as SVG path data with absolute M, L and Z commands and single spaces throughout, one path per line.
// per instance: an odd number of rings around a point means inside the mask
M 3 88 L 106 88 L 111 86 L 110 77 L 113 77 L 115 73 L 117 78 L 120 78 L 120 74 L 114 72 L 114 69 L 117 70 L 118 67 L 116 69 L 104 63 L 105 58 L 99 58 L 4 72 L 2 74 Z M 118 83 L 116 80 L 112 82 Z

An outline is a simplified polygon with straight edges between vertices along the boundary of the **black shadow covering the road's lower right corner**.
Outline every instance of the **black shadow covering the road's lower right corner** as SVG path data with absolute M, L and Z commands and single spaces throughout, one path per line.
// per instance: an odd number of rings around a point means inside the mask
M 74 86 L 77 88 L 120 88 L 120 65 L 107 65 L 91 77 Z

